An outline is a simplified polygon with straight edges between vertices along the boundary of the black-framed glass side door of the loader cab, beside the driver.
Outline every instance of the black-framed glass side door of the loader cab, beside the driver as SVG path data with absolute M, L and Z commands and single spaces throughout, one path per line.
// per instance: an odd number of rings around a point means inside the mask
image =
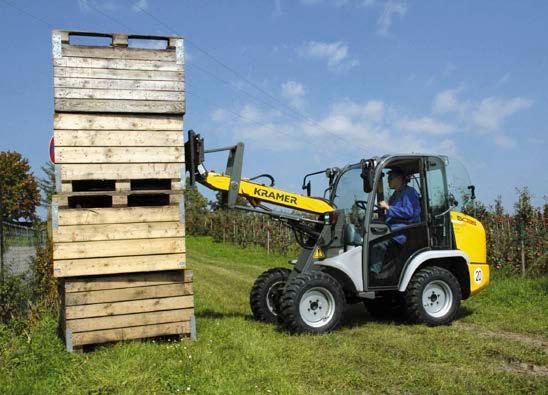
M 388 173 L 393 167 L 408 169 L 408 187 L 415 189 L 421 205 L 420 220 L 416 223 L 386 224 L 386 213 L 379 209 L 382 200 L 389 201 L 395 192 L 390 189 Z M 408 259 L 428 248 L 428 226 L 424 210 L 424 163 L 421 158 L 400 159 L 387 163 L 378 174 L 374 206 L 368 213 L 364 244 L 364 284 L 368 290 L 397 289 L 401 272 Z

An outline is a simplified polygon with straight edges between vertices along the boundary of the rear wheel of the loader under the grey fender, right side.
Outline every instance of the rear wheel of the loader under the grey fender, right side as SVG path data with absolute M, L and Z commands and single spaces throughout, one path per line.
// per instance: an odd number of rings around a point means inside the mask
M 449 270 L 426 267 L 413 275 L 405 292 L 407 318 L 430 326 L 449 324 L 461 298 L 460 284 Z

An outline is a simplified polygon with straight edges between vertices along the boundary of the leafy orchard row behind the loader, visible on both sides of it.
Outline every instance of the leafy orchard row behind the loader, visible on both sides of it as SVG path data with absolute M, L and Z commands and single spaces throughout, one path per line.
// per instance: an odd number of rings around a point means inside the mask
M 527 221 L 483 208 L 475 213 L 487 234 L 487 261 L 496 269 L 546 275 L 548 273 L 547 217 L 539 209 Z M 267 253 L 295 256 L 292 232 L 264 215 L 219 210 L 187 215 L 189 234 L 211 236 L 217 242 L 242 247 L 260 246 Z

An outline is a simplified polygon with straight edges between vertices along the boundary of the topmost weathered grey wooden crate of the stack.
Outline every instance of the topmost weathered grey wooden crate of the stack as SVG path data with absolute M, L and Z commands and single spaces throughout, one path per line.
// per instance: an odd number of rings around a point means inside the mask
M 108 37 L 110 45 L 74 45 L 71 37 Z M 165 43 L 133 48 L 131 39 Z M 55 111 L 184 114 L 183 39 L 54 30 Z

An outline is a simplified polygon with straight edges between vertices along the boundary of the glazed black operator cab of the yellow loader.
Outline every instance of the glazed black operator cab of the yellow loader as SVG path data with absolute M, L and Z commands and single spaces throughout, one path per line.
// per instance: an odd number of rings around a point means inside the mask
M 392 155 L 341 171 L 331 201 L 344 211 L 344 249 L 362 247 L 364 289 L 395 290 L 412 256 L 453 248 L 445 161 L 438 156 Z M 390 173 L 396 170 L 402 173 L 408 193 L 418 196 L 413 220 L 387 222 L 388 213 L 380 207 L 382 201 L 390 204 L 396 193 L 389 185 Z

